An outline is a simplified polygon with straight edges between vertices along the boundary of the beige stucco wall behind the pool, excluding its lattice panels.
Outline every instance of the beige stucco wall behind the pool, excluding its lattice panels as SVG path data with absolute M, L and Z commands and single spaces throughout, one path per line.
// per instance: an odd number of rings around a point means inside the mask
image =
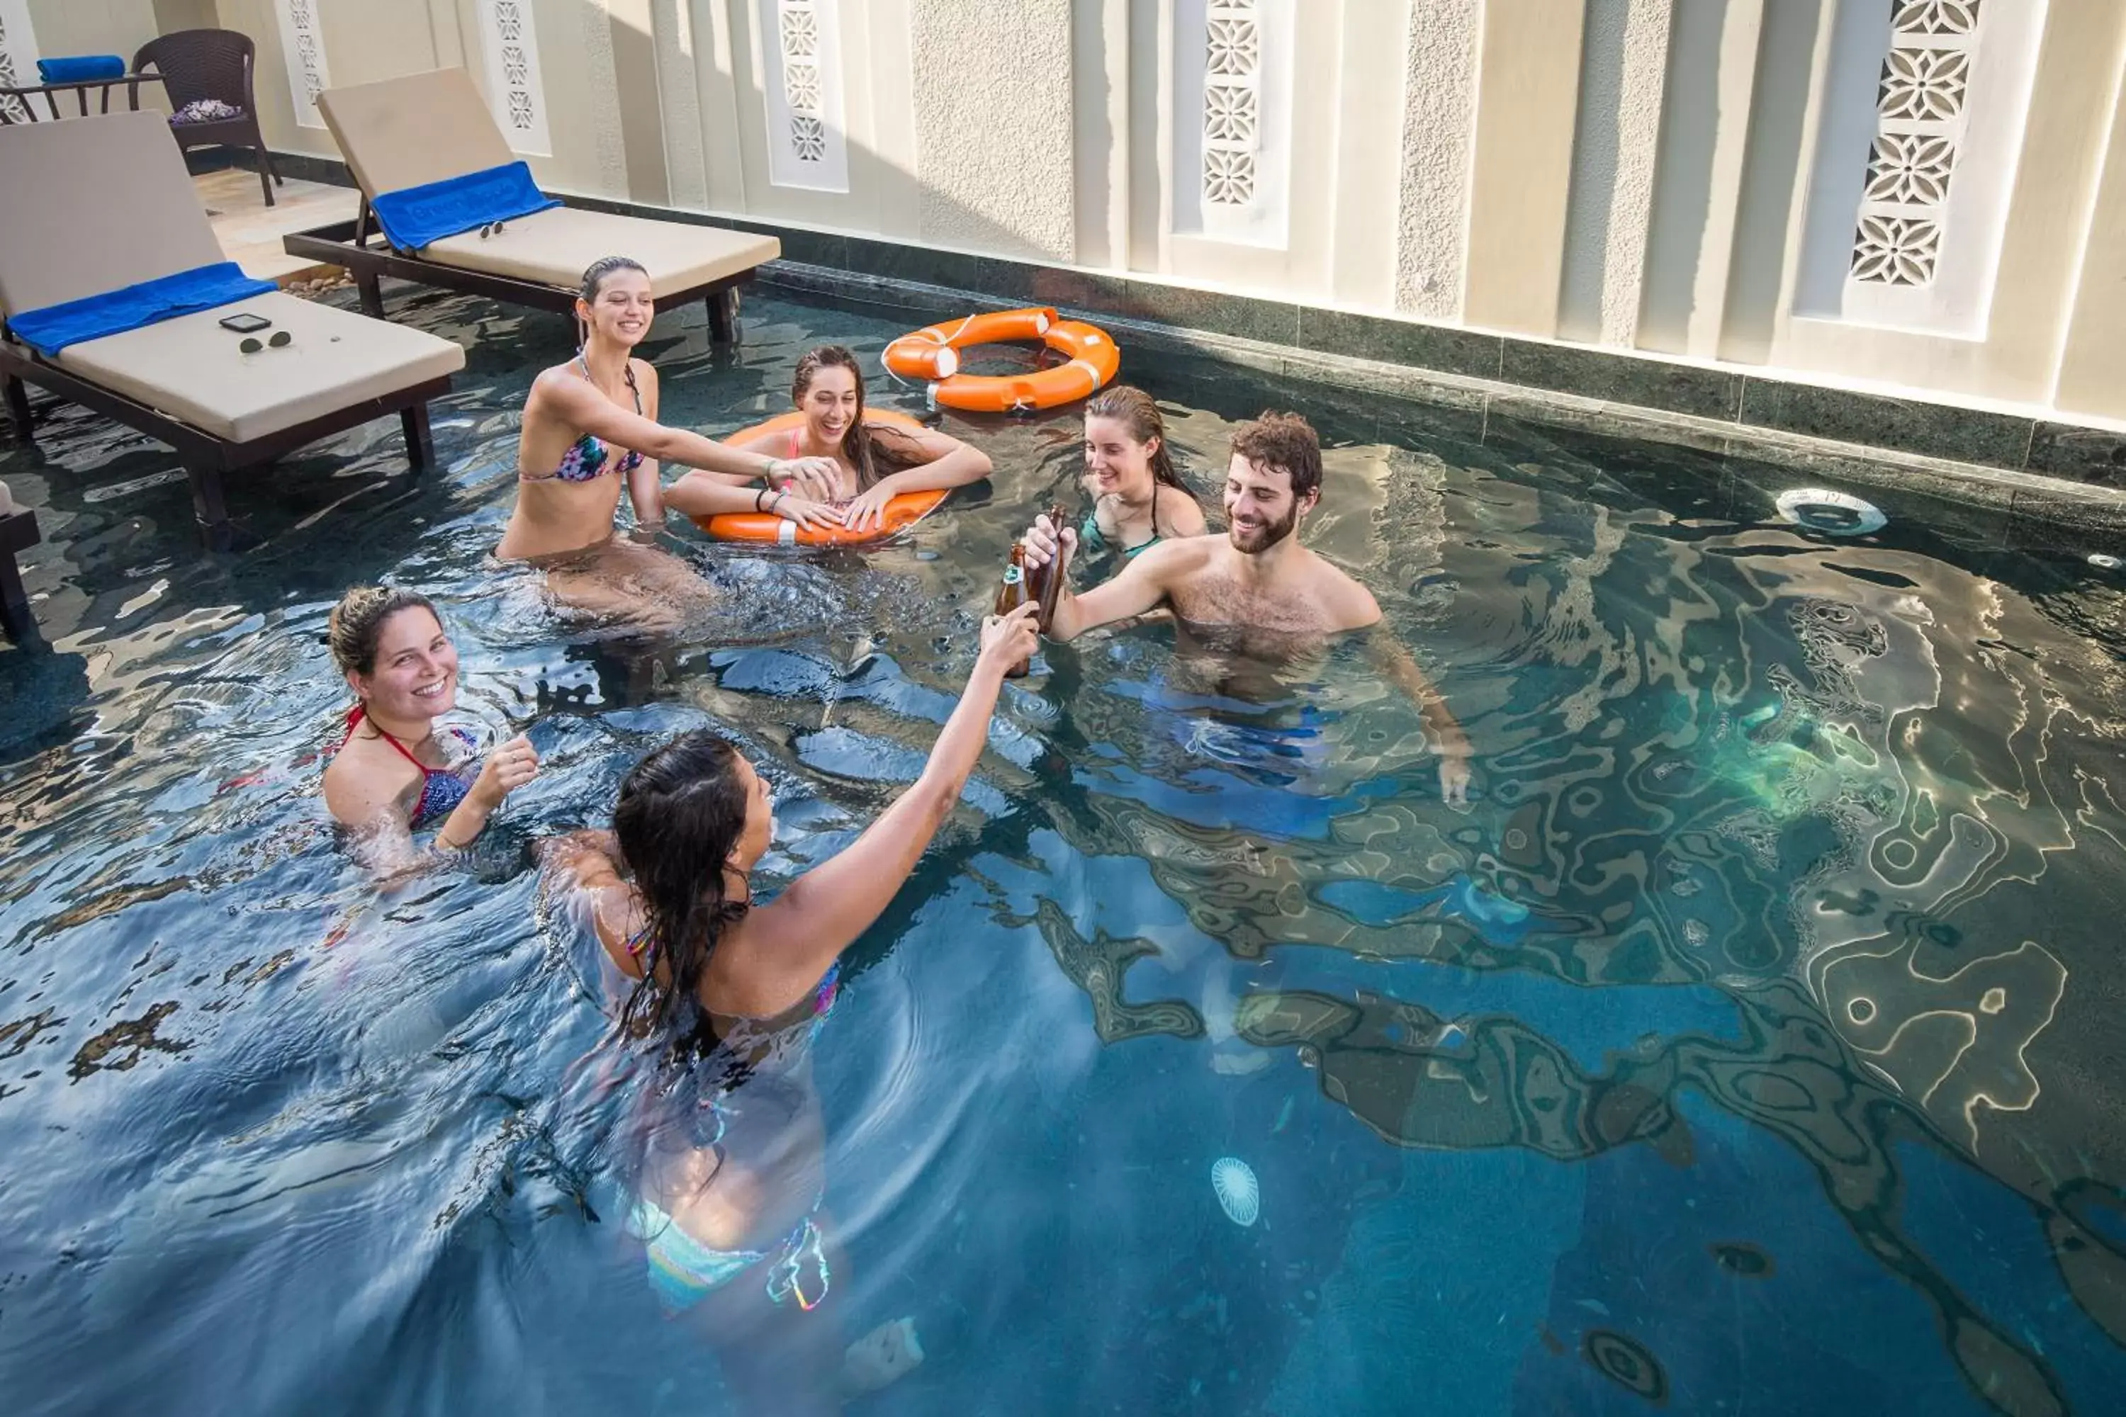
M 476 0 L 315 2 L 334 83 L 487 83 Z M 842 36 L 840 189 L 776 181 L 774 0 L 529 0 L 553 144 L 529 161 L 563 193 L 2126 419 L 2126 4 L 1988 6 L 2032 25 L 2035 76 L 1986 115 L 2011 164 L 1990 308 L 1941 334 L 1796 314 L 1811 178 L 1867 161 L 1824 119 L 1854 2 L 1254 0 L 1295 96 L 1265 240 L 1178 217 L 1203 181 L 1176 100 L 1201 0 L 816 0 Z M 244 30 L 268 140 L 334 153 L 293 121 L 270 0 L 30 8 L 47 53 Z

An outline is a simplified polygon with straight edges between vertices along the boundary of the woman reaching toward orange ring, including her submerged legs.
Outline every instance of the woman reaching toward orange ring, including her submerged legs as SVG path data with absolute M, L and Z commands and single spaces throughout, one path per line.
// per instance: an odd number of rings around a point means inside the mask
M 557 599 L 629 618 L 644 612 L 655 618 L 708 597 L 708 586 L 678 557 L 612 535 L 623 482 L 638 527 L 663 525 L 659 463 L 793 482 L 770 493 L 704 478 L 687 497 L 704 514 L 774 512 L 802 527 L 840 520 L 812 497 L 838 484 L 840 470 L 829 459 L 763 457 L 657 423 L 657 370 L 631 355 L 653 314 L 651 278 L 640 263 L 608 255 L 583 272 L 576 297 L 583 348 L 532 380 L 517 440 L 517 508 L 495 546 L 504 561 L 544 563 Z

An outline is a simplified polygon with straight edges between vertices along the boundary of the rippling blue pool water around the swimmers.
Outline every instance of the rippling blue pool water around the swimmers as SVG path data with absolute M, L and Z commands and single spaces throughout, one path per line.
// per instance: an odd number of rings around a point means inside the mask
M 729 1411 L 623 1234 L 606 1047 L 534 837 L 714 724 L 772 882 L 921 767 L 1078 416 L 952 416 L 997 474 L 870 554 L 708 548 L 668 635 L 487 563 L 559 319 L 438 293 L 436 408 L 232 482 L 79 410 L 51 646 L 0 652 L 0 1389 L 11 1413 Z M 787 408 L 799 351 L 929 317 L 763 295 L 651 340 L 665 416 Z M 2126 582 L 1952 501 L 1125 348 L 1216 489 L 1237 419 L 1329 444 L 1310 544 L 1478 750 L 1441 805 L 1361 648 L 1278 676 L 1144 625 L 1048 648 L 816 1041 L 874 1413 L 2105 1413 L 2126 1392 Z M 884 382 L 884 380 L 880 380 Z M 912 408 L 874 389 L 876 404 Z M 2009 544 L 2013 542 L 2013 546 Z M 2115 550 L 2115 548 L 2111 548 Z M 459 718 L 540 780 L 378 899 L 317 803 L 351 582 L 438 599 Z M 1237 1224 L 1222 1158 L 1256 1181 Z M 1225 1166 L 1222 1177 L 1237 1175 Z M 793 1383 L 795 1389 L 795 1383 Z M 791 1409 L 795 1411 L 795 1409 Z

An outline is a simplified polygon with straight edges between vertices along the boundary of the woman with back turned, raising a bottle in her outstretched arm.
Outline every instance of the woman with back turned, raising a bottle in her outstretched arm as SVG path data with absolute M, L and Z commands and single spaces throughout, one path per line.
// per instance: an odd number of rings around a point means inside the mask
M 753 892 L 774 837 L 767 782 L 706 731 L 629 771 L 612 833 L 549 848 L 549 884 L 574 897 L 625 990 L 621 1032 L 651 1049 L 629 1230 L 665 1311 L 699 1321 L 719 1349 L 738 1411 L 833 1411 L 923 1358 L 908 1319 L 838 1351 L 838 1321 L 814 1313 L 846 1266 L 821 1215 L 810 1043 L 833 1007 L 842 950 L 952 812 L 1003 671 L 1033 642 L 1033 605 L 991 616 L 923 775 L 774 901 Z

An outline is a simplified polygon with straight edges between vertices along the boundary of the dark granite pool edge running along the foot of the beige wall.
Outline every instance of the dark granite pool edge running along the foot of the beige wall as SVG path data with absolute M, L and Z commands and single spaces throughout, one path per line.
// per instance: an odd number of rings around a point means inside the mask
M 274 161 L 287 176 L 351 185 L 336 159 L 276 153 Z M 2028 486 L 2049 489 L 2049 497 L 2079 501 L 2079 491 L 2092 506 L 2126 499 L 2126 431 L 2117 429 L 774 221 L 608 198 L 568 200 L 589 210 L 774 236 L 782 242 L 782 261 L 763 268 L 761 278 L 791 289 L 829 293 L 831 280 L 821 272 L 840 272 L 857 283 L 848 293 L 867 291 L 872 300 L 897 297 L 901 304 L 927 300 L 940 312 L 1050 304 L 1129 327 L 1144 342 L 1180 340 L 1184 348 L 1259 370 L 1276 361 L 1273 372 L 1282 376 L 1376 387 L 1399 397 L 1444 397 L 1465 408 L 1482 393 L 1484 410 L 1533 423 L 1590 431 L 1605 423 L 1622 436 L 1707 450 L 1718 440 L 1720 450 L 1735 457 L 1852 467 L 1854 480 L 1871 484 L 1884 482 L 1884 474 L 1899 482 L 1954 476 L 1984 482 L 2005 474 L 2007 484 L 2030 478 Z M 935 291 L 950 295 L 950 304 L 938 306 Z M 1259 348 L 1246 348 L 1250 344 Z

